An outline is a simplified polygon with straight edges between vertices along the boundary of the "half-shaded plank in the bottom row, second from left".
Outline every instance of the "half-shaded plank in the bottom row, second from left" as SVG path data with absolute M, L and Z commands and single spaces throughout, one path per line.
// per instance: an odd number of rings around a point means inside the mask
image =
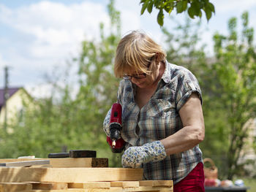
M 67 183 L 47 183 L 47 182 L 28 182 L 32 185 L 32 189 L 67 189 Z

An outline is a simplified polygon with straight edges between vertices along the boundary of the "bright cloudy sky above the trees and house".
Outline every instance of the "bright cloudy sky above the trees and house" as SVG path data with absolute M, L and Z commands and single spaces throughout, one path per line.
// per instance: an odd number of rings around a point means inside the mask
M 249 26 L 256 31 L 255 0 L 210 1 L 216 14 L 208 22 L 203 15 L 205 30 L 200 35 L 208 45 L 209 55 L 213 34 L 216 31 L 227 34 L 230 18 L 240 19 L 242 12 L 248 11 Z M 110 28 L 108 3 L 108 0 L 0 0 L 0 88 L 4 87 L 4 66 L 9 67 L 10 87 L 24 87 L 35 97 L 50 93 L 45 74 L 57 78 L 67 64 L 72 64 L 69 74 L 75 77 L 77 68 L 72 58 L 78 57 L 81 42 L 99 39 L 99 23 L 104 23 L 107 30 Z M 140 0 L 116 0 L 115 7 L 121 12 L 122 34 L 140 29 L 161 45 L 157 11 L 140 15 Z M 174 11 L 171 15 L 184 20 L 184 14 L 176 15 Z M 167 15 L 165 27 L 170 30 L 174 27 Z M 70 78 L 70 83 L 75 85 L 76 79 Z

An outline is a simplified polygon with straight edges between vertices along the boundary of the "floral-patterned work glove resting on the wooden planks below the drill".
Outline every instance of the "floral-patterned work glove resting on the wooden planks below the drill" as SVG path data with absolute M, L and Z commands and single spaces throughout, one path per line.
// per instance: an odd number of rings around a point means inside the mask
M 140 147 L 129 147 L 121 158 L 123 167 L 139 168 L 141 164 L 162 161 L 166 158 L 165 147 L 162 142 L 146 143 Z

